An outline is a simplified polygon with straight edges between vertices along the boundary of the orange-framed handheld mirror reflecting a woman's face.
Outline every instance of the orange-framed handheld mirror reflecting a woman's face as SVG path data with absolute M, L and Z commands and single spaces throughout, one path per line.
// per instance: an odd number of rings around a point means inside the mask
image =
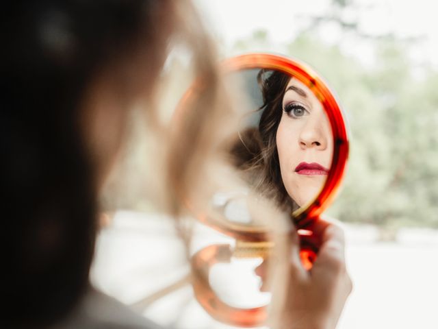
M 322 78 L 296 60 L 253 53 L 226 60 L 222 71 L 234 92 L 246 99 L 238 132 L 229 143 L 231 162 L 248 184 L 266 191 L 289 212 L 300 236 L 302 263 L 309 269 L 318 253 L 311 243 L 313 223 L 335 197 L 348 157 L 342 110 Z M 189 97 L 196 92 L 183 99 L 179 115 Z M 218 263 L 263 257 L 261 250 L 269 247 L 265 236 L 270 228 L 251 220 L 245 202 L 244 193 L 218 193 L 212 207 L 222 218 L 198 216 L 235 239 L 235 245 L 198 250 L 192 256 L 192 273 L 196 299 L 212 317 L 248 327 L 263 324 L 266 305 L 230 305 L 218 297 L 209 278 Z

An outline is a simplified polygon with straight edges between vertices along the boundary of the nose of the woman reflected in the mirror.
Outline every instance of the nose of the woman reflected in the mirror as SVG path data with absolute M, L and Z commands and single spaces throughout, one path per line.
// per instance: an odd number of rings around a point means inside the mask
M 298 143 L 302 149 L 315 147 L 315 149 L 326 149 L 327 136 L 324 132 L 324 113 L 322 116 L 309 116 L 307 122 L 302 127 Z

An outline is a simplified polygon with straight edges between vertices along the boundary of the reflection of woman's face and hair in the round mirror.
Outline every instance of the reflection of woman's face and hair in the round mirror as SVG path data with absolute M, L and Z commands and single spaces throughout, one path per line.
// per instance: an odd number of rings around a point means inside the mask
M 242 93 L 246 99 L 230 147 L 233 164 L 281 208 L 309 205 L 324 186 L 333 157 L 333 134 L 322 103 L 282 71 L 251 69 L 230 78 L 240 85 L 240 99 Z

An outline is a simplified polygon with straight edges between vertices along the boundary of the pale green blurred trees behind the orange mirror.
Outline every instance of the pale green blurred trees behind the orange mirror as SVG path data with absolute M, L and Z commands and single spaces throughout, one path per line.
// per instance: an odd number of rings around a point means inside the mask
M 367 34 L 352 14 L 360 9 L 353 1 L 332 2 L 324 16 L 296 18 L 301 32 L 281 45 L 285 55 L 322 74 L 349 121 L 348 171 L 328 213 L 383 231 L 438 228 L 438 72 L 411 59 L 417 40 Z M 372 49 L 369 63 L 344 51 L 345 42 L 326 42 L 328 28 L 337 30 L 339 40 L 366 43 Z M 235 42 L 233 52 L 271 44 L 268 32 L 259 30 Z

